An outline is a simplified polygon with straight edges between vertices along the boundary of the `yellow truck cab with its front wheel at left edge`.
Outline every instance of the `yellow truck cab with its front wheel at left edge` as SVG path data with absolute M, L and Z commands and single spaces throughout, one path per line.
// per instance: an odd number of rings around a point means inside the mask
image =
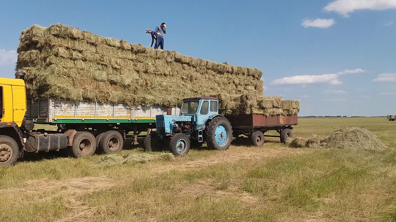
M 25 73 L 15 79 L 0 78 L 0 166 L 13 164 L 24 146 L 22 128 L 32 130 L 34 123 L 24 121 L 26 112 Z

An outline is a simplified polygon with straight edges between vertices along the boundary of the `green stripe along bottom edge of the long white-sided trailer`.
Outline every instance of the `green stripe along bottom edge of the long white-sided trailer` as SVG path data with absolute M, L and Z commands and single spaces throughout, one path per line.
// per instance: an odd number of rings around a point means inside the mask
M 38 124 L 48 124 L 49 122 L 46 119 L 38 119 Z M 128 120 L 128 119 L 53 119 L 51 124 L 67 124 L 67 123 L 155 123 L 155 120 L 149 119 L 137 119 L 137 120 Z

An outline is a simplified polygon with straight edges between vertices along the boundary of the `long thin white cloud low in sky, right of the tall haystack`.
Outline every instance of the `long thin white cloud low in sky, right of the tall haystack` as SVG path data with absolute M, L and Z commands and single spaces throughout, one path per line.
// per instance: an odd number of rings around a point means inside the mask
M 348 73 L 362 73 L 365 70 L 344 70 L 333 74 L 324 75 L 295 75 L 291 77 L 283 77 L 282 79 L 275 79 L 270 84 L 271 85 L 306 85 L 312 83 L 329 83 L 331 85 L 341 85 L 343 84 L 337 78 L 339 75 L 344 75 Z

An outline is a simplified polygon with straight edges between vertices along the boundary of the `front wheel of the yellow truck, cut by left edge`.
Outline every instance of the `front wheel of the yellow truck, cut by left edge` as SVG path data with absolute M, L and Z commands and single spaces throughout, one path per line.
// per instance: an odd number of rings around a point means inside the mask
M 19 147 L 15 139 L 0 135 L 0 166 L 13 165 L 19 156 Z

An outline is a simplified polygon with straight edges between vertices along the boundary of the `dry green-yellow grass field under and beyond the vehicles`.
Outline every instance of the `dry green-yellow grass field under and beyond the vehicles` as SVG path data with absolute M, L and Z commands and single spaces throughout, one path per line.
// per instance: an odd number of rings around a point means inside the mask
M 263 147 L 192 150 L 175 160 L 98 167 L 101 157 L 26 157 L 0 169 L 0 221 L 396 221 L 396 123 L 299 120 L 294 136 L 367 128 L 383 152 Z M 142 153 L 128 146 L 122 154 Z M 34 158 L 35 157 L 35 158 Z

